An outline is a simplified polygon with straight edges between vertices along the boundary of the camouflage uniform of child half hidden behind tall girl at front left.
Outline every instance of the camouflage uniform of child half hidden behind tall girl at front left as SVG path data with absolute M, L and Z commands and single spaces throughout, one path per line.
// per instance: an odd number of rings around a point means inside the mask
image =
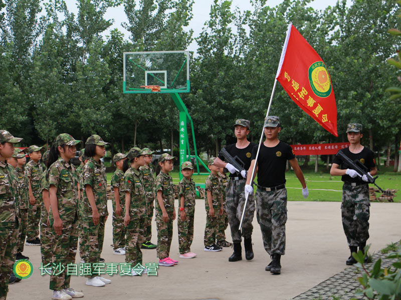
M 41 202 L 41 254 L 42 263 L 46 265 L 52 263 L 53 249 L 52 249 L 52 227 L 48 226 L 47 220 L 49 214 L 46 210 L 45 201 L 43 200 L 43 192 L 49 194 L 49 182 L 46 178 L 46 172 L 44 171 L 41 177 L 41 192 L 42 192 L 42 202 Z

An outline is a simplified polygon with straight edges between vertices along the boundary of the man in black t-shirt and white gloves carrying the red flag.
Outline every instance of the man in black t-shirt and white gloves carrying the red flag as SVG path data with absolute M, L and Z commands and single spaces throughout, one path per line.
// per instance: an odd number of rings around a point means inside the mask
M 287 221 L 285 168 L 287 160 L 302 184 L 303 196 L 306 198 L 309 194 L 304 175 L 291 146 L 278 139 L 280 131 L 279 117 L 274 115 L 266 117 L 264 125 L 266 140 L 261 144 L 256 162 L 256 171 L 258 172 L 256 217 L 262 230 L 263 245 L 272 258 L 265 269 L 273 274 L 281 273 L 280 258 L 285 254 L 285 223 Z M 250 195 L 254 192 L 250 182 L 253 180 L 251 176 L 257 151 L 258 147 L 255 146 L 252 150 L 252 162 L 245 185 L 245 192 Z

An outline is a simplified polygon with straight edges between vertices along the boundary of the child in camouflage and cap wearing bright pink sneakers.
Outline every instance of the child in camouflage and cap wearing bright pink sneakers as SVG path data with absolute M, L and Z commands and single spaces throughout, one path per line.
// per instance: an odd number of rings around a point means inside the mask
M 157 257 L 159 257 L 159 265 L 164 266 L 172 266 L 178 263 L 177 260 L 169 257 L 175 209 L 173 183 L 168 172 L 173 168 L 173 159 L 176 159 L 176 157 L 163 153 L 156 167 Z

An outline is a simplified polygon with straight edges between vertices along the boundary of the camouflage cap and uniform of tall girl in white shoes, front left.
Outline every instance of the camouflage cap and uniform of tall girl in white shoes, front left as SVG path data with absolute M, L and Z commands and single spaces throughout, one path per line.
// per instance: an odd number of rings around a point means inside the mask
M 79 140 L 75 140 L 71 135 L 66 133 L 60 134 L 66 142 L 63 144 L 77 144 Z M 60 135 L 56 138 L 56 143 L 61 143 Z M 60 145 L 60 144 L 57 144 Z M 59 157 L 49 167 L 49 188 L 53 185 L 57 187 L 57 207 L 60 218 L 63 222 L 61 235 L 57 235 L 54 230 L 54 216 L 52 210 L 49 213 L 50 226 L 52 227 L 52 264 L 66 266 L 75 262 L 78 245 L 78 178 L 76 176 L 73 164 Z M 44 182 L 44 185 L 46 183 Z M 45 209 L 46 210 L 46 209 Z M 59 275 L 55 271 L 50 276 L 50 289 L 62 290 L 70 287 L 71 275 L 67 275 L 67 269 Z

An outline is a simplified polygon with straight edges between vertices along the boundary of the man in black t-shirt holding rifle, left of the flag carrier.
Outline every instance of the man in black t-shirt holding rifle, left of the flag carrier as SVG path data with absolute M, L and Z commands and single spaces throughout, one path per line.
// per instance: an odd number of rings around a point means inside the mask
M 226 150 L 231 156 L 238 156 L 244 162 L 244 168 L 247 170 L 251 165 L 252 149 L 255 146 L 254 143 L 247 139 L 247 135 L 249 134 L 249 120 L 236 120 L 234 124 L 234 133 L 237 137 L 237 142 L 226 146 Z M 239 228 L 245 203 L 244 188 L 247 172 L 245 170 L 239 172 L 238 169 L 236 169 L 231 163 L 225 162 L 224 159 L 223 155 L 219 155 L 215 159 L 215 165 L 225 167 L 230 172 L 230 181 L 226 187 L 226 211 L 234 243 L 234 253 L 229 257 L 229 261 L 242 259 L 241 235 L 244 236 L 245 258 L 250 260 L 254 258 L 254 252 L 252 249 L 252 220 L 255 212 L 254 197 L 251 195 L 248 198 L 241 232 Z

